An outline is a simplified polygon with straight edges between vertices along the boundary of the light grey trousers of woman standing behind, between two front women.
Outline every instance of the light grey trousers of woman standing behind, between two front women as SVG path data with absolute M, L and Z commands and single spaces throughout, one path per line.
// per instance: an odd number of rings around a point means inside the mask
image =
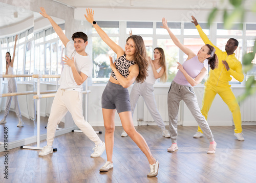
M 154 87 L 152 84 L 149 84 L 147 82 L 134 83 L 130 94 L 132 115 L 140 96 L 143 97 L 147 109 L 150 111 L 151 116 L 156 122 L 156 124 L 159 126 L 159 128 L 161 128 L 161 130 L 165 130 L 165 124 L 157 109 L 157 104 L 154 95 Z

